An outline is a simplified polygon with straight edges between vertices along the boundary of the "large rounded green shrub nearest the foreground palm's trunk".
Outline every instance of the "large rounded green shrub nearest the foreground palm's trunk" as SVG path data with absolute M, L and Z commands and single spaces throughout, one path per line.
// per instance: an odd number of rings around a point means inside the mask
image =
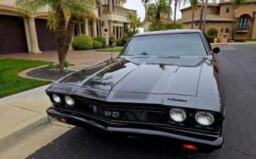
M 88 35 L 77 35 L 72 42 L 74 50 L 93 49 L 93 40 Z

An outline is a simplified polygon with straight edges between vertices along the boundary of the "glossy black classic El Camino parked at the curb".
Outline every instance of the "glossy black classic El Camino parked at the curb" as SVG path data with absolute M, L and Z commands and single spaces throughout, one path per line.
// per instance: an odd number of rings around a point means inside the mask
M 217 53 L 200 30 L 134 35 L 118 57 L 47 88 L 53 102 L 47 113 L 80 127 L 219 149 L 225 109 Z

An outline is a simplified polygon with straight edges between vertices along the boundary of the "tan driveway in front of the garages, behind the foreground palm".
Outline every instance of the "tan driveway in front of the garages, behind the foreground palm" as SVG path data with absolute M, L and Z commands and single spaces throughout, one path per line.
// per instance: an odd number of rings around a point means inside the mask
M 119 53 L 113 53 L 113 57 L 118 56 Z M 95 50 L 70 50 L 68 51 L 66 60 L 71 64 L 86 64 L 91 65 L 97 62 L 102 62 L 110 59 L 111 53 L 98 52 Z M 31 53 L 16 53 L 9 55 L 0 55 L 0 58 L 15 58 L 15 59 L 32 59 L 42 60 L 47 62 L 58 63 L 57 51 L 45 51 L 39 54 Z

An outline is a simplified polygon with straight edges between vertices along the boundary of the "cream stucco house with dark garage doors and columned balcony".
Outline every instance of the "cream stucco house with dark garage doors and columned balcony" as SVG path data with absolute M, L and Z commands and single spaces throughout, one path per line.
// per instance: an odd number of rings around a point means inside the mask
M 116 38 L 123 37 L 124 27 L 129 24 L 129 12 L 136 12 L 123 7 L 126 1 L 95 0 L 93 12 L 97 21 L 76 21 L 74 35 L 102 35 L 106 39 L 111 34 Z M 46 28 L 48 8 L 21 17 L 14 3 L 15 0 L 0 0 L 0 55 L 55 50 L 55 34 Z

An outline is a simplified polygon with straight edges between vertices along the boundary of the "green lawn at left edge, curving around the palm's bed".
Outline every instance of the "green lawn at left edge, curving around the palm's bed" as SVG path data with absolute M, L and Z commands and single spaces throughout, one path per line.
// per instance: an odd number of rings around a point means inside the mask
M 5 97 L 38 86 L 51 84 L 49 81 L 40 81 L 19 77 L 18 73 L 28 68 L 49 64 L 50 62 L 33 61 L 27 59 L 0 59 L 0 97 Z

